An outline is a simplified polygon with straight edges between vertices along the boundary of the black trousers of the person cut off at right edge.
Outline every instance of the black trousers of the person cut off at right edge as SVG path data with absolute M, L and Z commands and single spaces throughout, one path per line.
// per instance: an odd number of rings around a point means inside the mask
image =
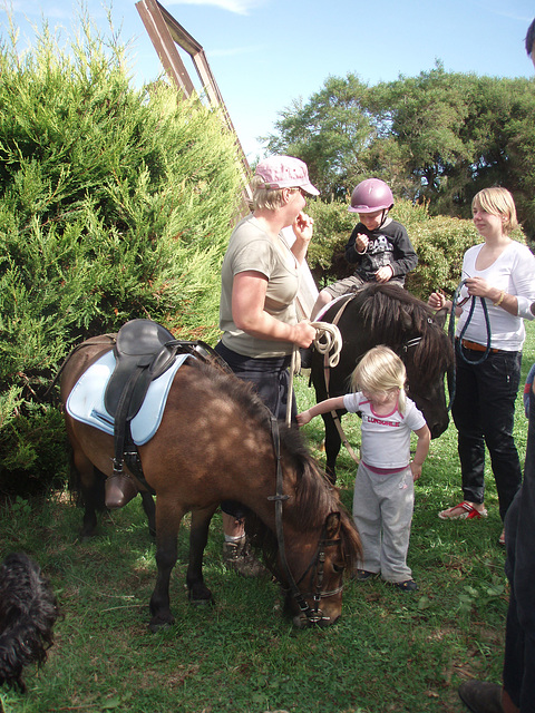
M 535 398 L 529 399 L 524 482 L 505 518 L 510 583 L 504 688 L 522 713 L 535 712 Z

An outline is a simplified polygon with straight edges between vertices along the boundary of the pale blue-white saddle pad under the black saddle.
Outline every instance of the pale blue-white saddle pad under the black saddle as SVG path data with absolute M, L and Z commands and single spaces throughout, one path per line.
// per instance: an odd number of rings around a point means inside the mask
M 132 438 L 136 446 L 149 441 L 158 430 L 173 378 L 188 356 L 189 354 L 178 354 L 175 363 L 148 387 L 142 408 L 130 421 Z M 115 356 L 111 350 L 81 374 L 66 403 L 67 412 L 74 419 L 111 436 L 114 418 L 106 411 L 104 394 L 114 369 Z

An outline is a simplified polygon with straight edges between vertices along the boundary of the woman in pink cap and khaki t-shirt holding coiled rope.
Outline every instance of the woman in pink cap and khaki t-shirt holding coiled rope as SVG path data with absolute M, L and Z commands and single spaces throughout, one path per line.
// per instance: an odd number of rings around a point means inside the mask
M 280 420 L 291 399 L 289 371 L 294 346 L 307 348 L 315 336 L 309 321 L 298 321 L 295 296 L 300 265 L 312 238 L 312 218 L 303 211 L 307 196 L 319 191 L 310 183 L 307 165 L 292 156 L 261 162 L 252 180 L 253 212 L 231 235 L 221 273 L 220 328 L 216 352 L 232 371 L 254 384 Z M 282 229 L 293 227 L 286 244 Z M 252 473 L 252 477 L 254 473 Z M 243 575 L 255 576 L 260 563 L 245 539 L 244 512 L 236 502 L 222 504 L 225 561 Z

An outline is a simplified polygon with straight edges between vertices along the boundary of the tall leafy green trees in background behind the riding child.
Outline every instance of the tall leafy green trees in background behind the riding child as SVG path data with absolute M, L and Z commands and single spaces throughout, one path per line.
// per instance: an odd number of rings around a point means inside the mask
M 473 196 L 503 185 L 535 238 L 533 79 L 446 72 L 374 87 L 330 77 L 308 102 L 281 114 L 269 149 L 311 166 L 322 197 L 347 198 L 364 177 L 426 202 L 431 215 L 470 216 Z

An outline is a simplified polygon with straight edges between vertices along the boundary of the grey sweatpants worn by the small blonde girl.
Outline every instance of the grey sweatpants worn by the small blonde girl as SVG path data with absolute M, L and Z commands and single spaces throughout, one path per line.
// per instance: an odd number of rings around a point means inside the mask
M 357 471 L 353 519 L 363 550 L 362 569 L 381 575 L 387 582 L 412 578 L 407 566 L 415 485 L 409 467 L 380 476 L 362 462 Z

